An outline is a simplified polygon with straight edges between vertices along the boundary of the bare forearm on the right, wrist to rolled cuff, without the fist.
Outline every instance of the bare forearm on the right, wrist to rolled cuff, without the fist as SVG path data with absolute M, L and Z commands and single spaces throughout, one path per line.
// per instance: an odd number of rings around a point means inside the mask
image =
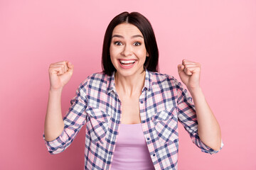
M 220 125 L 213 112 L 210 110 L 203 91 L 199 89 L 188 89 L 196 107 L 198 119 L 198 135 L 202 142 L 208 147 L 218 150 L 221 145 Z

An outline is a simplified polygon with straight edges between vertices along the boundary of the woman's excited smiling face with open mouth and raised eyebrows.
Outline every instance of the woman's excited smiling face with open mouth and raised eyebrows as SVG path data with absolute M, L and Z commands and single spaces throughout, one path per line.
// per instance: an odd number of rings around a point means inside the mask
M 129 77 L 142 73 L 147 56 L 144 37 L 136 26 L 121 23 L 114 28 L 110 58 L 117 74 Z

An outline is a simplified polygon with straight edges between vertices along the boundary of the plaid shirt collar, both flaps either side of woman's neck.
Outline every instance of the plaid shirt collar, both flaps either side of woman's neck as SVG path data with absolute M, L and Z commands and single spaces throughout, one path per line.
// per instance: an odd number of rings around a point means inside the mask
M 112 75 L 108 78 L 108 86 L 107 86 L 107 93 L 109 94 L 111 91 L 114 91 L 114 93 L 117 93 L 116 88 L 115 88 L 115 84 L 114 84 L 114 73 L 112 73 Z M 142 89 L 142 91 L 144 91 L 144 89 L 147 89 L 148 91 L 151 90 L 151 80 L 152 75 L 151 72 L 149 72 L 146 69 L 146 76 L 145 76 L 145 82 L 144 82 L 144 87 Z

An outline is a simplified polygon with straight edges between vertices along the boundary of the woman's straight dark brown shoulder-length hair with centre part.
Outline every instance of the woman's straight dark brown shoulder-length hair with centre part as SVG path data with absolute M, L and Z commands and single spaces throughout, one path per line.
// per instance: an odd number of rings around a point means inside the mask
M 154 35 L 154 30 L 142 14 L 138 12 L 123 12 L 115 16 L 110 24 L 107 26 L 105 33 L 103 48 L 102 48 L 102 70 L 107 75 L 112 75 L 116 71 L 111 60 L 110 60 L 110 43 L 112 40 L 112 32 L 114 28 L 121 23 L 131 23 L 136 26 L 144 37 L 146 52 L 148 52 L 149 57 L 146 57 L 144 63 L 144 69 L 148 69 L 151 72 L 158 72 L 158 62 L 159 62 L 159 50 L 156 44 L 156 38 Z

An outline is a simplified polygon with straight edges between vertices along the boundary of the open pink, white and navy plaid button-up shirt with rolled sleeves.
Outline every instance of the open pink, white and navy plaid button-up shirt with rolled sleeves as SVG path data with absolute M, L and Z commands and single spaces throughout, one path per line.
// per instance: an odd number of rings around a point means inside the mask
M 85 169 L 111 169 L 121 120 L 114 74 L 90 75 L 80 84 L 70 103 L 63 118 L 63 132 L 55 140 L 46 142 L 48 152 L 63 152 L 85 125 Z M 178 121 L 202 152 L 218 152 L 204 145 L 198 137 L 192 98 L 174 77 L 146 70 L 139 112 L 155 169 L 178 169 Z

